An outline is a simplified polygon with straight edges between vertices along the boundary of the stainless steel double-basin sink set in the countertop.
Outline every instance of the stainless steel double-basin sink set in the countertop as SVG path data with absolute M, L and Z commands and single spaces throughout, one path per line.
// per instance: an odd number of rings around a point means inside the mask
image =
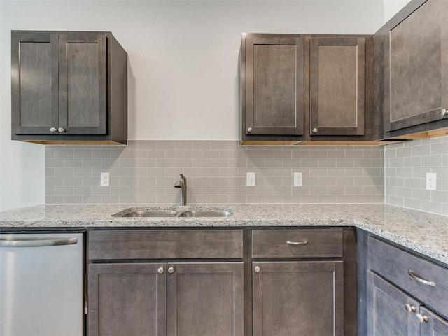
M 228 217 L 228 210 L 123 210 L 114 217 Z

